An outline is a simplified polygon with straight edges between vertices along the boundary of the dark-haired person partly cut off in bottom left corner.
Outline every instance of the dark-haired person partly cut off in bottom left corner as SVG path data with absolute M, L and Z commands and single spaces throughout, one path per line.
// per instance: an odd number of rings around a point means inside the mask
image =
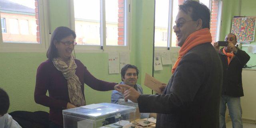
M 8 94 L 0 88 L 0 128 L 21 128 L 7 111 L 10 106 Z

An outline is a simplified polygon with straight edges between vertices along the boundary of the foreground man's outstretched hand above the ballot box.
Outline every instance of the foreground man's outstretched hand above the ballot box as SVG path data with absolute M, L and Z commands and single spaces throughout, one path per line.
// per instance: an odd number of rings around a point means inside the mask
M 140 96 L 140 93 L 138 93 L 133 87 L 120 84 L 121 87 L 126 88 L 127 90 L 124 92 L 124 100 L 131 100 L 134 103 L 138 103 L 137 99 Z

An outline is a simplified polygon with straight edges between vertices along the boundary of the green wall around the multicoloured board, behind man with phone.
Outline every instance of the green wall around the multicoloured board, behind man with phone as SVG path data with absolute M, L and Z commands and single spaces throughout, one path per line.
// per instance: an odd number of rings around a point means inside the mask
M 220 40 L 231 32 L 232 18 L 234 16 L 256 16 L 256 0 L 223 0 L 222 28 Z M 254 35 L 254 38 L 255 35 Z M 256 39 L 254 39 L 256 40 Z M 256 41 L 251 42 L 256 45 Z M 242 47 L 247 52 L 248 47 Z M 247 65 L 256 65 L 256 54 L 248 53 L 250 60 Z

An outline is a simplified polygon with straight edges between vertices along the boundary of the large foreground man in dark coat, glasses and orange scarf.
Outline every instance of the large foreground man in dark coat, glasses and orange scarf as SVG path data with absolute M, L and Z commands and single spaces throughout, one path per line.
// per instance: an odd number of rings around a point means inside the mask
M 125 99 L 138 102 L 140 112 L 158 113 L 157 128 L 218 128 L 223 69 L 210 43 L 210 10 L 187 0 L 175 22 L 181 48 L 163 94 L 143 95 L 123 85 Z

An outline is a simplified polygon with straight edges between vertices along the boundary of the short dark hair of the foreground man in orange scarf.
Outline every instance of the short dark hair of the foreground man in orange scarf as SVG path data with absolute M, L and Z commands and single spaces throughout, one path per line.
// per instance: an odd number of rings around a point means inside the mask
M 202 20 L 202 28 L 210 29 L 210 10 L 201 2 L 194 0 L 186 0 L 182 5 L 179 5 L 180 10 L 188 14 L 191 11 L 190 17 L 193 21 Z

